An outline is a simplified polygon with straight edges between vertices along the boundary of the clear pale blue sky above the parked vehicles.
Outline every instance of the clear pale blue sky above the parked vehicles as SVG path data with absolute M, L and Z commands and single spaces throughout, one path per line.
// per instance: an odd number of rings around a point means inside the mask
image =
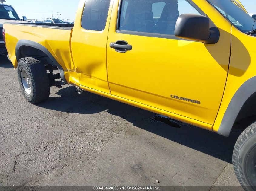
M 240 0 L 248 13 L 256 13 L 256 0 Z M 31 19 L 57 18 L 75 20 L 79 0 L 6 0 L 6 4 L 14 7 L 19 17 Z M 52 14 L 53 13 L 53 14 Z

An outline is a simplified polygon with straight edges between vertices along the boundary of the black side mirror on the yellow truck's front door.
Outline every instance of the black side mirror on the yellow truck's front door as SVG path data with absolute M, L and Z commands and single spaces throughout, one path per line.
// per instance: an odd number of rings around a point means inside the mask
M 174 35 L 178 38 L 207 44 L 215 44 L 220 38 L 218 28 L 210 28 L 210 19 L 197 14 L 180 15 L 176 22 Z

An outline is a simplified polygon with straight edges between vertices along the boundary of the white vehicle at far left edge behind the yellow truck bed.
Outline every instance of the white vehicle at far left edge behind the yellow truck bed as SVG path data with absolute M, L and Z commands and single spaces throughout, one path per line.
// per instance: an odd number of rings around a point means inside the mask
M 3 24 L 6 22 L 24 23 L 24 21 L 27 21 L 27 18 L 23 17 L 22 20 L 11 5 L 0 4 L 0 31 L 3 30 Z M 0 32 L 0 56 L 6 56 L 8 54 L 3 38 L 3 33 Z

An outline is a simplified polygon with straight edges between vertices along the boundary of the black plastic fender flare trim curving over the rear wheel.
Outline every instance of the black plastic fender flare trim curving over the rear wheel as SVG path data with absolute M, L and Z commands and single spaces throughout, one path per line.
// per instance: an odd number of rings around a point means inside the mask
M 65 76 L 64 76 L 64 69 L 62 68 L 62 66 L 57 62 L 57 60 L 52 56 L 52 54 L 49 52 L 48 49 L 46 49 L 44 46 L 42 46 L 41 44 L 39 43 L 36 43 L 36 42 L 33 42 L 31 40 L 19 40 L 18 43 L 16 44 L 16 47 L 15 47 L 15 55 L 16 55 L 16 60 L 17 62 L 19 61 L 19 59 L 22 58 L 22 55 L 21 55 L 21 52 L 20 52 L 20 49 L 22 46 L 29 46 L 29 47 L 32 47 L 32 48 L 35 48 L 35 49 L 38 49 L 38 50 L 41 50 L 43 53 L 45 53 L 53 62 L 53 64 L 55 66 L 57 66 L 57 68 L 59 69 L 60 71 L 60 75 L 61 75 L 61 79 L 67 83 L 66 79 L 65 79 Z

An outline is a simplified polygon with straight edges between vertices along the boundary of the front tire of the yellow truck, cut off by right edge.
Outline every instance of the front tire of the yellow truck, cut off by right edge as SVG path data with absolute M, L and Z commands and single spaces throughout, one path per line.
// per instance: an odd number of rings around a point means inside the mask
M 234 171 L 244 190 L 256 190 L 256 123 L 238 137 L 233 152 Z

